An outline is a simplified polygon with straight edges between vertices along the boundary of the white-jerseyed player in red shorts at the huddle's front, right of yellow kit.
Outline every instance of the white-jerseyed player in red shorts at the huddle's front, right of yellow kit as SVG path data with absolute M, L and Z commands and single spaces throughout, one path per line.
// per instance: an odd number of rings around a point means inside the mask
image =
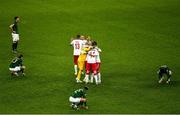
M 96 84 L 98 84 L 98 78 L 97 78 L 97 56 L 99 55 L 99 52 L 95 49 L 95 47 L 93 47 L 93 49 L 91 49 L 88 54 L 87 54 L 87 64 L 86 64 L 86 76 L 84 78 L 84 81 L 86 83 L 89 82 L 89 74 L 92 71 Z

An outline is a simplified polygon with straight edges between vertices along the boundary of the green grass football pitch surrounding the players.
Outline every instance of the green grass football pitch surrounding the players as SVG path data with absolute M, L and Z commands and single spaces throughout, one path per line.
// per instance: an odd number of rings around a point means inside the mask
M 0 0 L 0 113 L 180 113 L 179 0 Z M 8 29 L 20 16 L 26 77 L 11 78 Z M 88 85 L 89 110 L 68 98 L 70 38 L 90 35 L 102 49 L 102 85 Z M 157 84 L 167 64 L 172 84 Z

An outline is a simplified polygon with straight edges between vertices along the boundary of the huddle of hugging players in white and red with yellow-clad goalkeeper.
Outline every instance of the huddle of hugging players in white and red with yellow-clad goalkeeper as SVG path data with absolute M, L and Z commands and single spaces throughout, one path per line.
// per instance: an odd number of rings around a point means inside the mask
M 77 35 L 76 38 L 71 39 L 70 45 L 74 48 L 74 75 L 76 76 L 76 82 L 82 83 L 81 76 L 85 69 L 83 81 L 93 83 L 95 79 L 95 83 L 100 84 L 101 49 L 97 46 L 97 42 L 91 40 L 89 36 Z

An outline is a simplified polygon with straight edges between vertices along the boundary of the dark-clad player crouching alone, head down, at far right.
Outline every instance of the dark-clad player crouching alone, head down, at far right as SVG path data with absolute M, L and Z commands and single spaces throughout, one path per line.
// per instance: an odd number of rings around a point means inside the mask
M 172 71 L 169 69 L 167 65 L 161 66 L 157 73 L 159 75 L 159 83 L 163 82 L 163 80 L 165 79 L 165 76 L 167 76 L 166 83 L 170 83 Z

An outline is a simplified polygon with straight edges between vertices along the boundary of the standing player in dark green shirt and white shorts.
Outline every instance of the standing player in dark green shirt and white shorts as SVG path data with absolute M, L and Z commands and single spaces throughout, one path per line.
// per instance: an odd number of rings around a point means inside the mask
M 9 26 L 12 34 L 12 51 L 17 53 L 17 46 L 19 42 L 19 31 L 18 31 L 18 22 L 20 18 L 18 16 L 14 17 L 14 23 Z

